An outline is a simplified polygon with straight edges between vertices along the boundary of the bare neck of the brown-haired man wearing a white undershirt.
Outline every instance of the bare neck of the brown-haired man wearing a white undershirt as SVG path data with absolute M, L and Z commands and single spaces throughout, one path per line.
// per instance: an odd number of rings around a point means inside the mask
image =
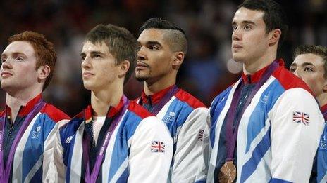
M 109 107 L 116 107 L 123 97 L 123 87 L 119 90 L 100 90 L 91 93 L 91 106 L 94 116 L 106 116 Z

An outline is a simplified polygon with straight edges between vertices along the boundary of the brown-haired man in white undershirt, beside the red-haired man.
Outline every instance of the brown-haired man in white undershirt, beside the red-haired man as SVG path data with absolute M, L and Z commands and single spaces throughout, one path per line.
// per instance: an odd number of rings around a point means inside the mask
M 168 129 L 123 94 L 136 65 L 136 39 L 125 28 L 97 25 L 80 56 L 91 105 L 59 130 L 60 182 L 65 176 L 66 182 L 164 182 L 173 152 Z

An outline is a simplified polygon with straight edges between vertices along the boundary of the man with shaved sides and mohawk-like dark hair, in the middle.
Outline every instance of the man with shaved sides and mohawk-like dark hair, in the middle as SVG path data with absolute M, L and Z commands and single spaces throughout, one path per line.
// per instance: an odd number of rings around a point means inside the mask
M 175 86 L 176 75 L 187 53 L 185 32 L 161 18 L 150 18 L 137 40 L 136 79 L 144 81 L 139 104 L 166 123 L 174 140 L 168 182 L 201 182 L 206 179 L 204 150 L 208 145 L 208 109 Z

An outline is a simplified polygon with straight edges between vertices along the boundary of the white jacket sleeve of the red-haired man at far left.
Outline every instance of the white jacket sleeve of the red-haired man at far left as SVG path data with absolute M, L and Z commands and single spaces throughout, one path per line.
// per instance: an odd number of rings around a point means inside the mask
M 58 147 L 58 132 L 61 124 L 66 123 L 66 121 L 69 120 L 62 120 L 56 123 L 51 133 L 49 133 L 47 140 L 44 142 L 42 182 L 63 182 L 63 179 L 60 179 L 58 176 L 58 172 L 63 169 L 61 164 L 59 164 L 62 162 L 62 158 L 60 155 L 61 148 Z

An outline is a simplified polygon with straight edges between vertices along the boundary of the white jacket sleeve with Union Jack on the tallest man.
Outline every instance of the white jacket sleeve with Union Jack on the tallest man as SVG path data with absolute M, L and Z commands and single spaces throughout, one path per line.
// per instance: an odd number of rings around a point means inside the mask
M 302 88 L 286 90 L 269 116 L 271 182 L 309 182 L 324 124 L 316 100 Z

